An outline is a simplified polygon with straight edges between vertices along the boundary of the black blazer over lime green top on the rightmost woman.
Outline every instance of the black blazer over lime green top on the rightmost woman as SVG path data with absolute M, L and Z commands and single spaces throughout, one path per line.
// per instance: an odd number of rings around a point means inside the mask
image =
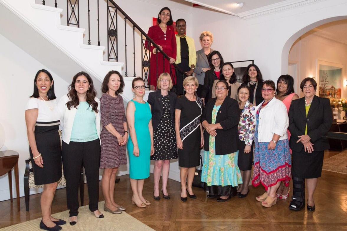
M 329 131 L 332 124 L 332 111 L 329 99 L 314 96 L 310 110 L 306 118 L 305 97 L 293 100 L 290 104 L 289 112 L 289 131 L 291 133 L 289 144 L 290 148 L 296 152 L 301 152 L 304 145 L 299 142 L 298 136 L 305 135 L 307 124 L 307 135 L 311 138 L 314 151 L 324 151 L 329 149 L 328 139 L 323 137 Z

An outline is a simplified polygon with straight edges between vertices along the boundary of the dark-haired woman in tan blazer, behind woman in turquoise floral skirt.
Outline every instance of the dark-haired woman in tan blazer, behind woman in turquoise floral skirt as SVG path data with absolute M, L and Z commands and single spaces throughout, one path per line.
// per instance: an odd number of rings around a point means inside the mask
M 222 75 L 220 79 L 214 80 L 212 89 L 215 88 L 216 84 L 219 80 L 225 80 L 228 83 L 228 96 L 234 100 L 237 99 L 237 89 L 241 85 L 237 82 L 237 77 L 234 72 L 234 66 L 232 66 L 231 62 L 225 62 L 222 66 Z M 215 98 L 215 91 L 212 91 L 212 98 Z

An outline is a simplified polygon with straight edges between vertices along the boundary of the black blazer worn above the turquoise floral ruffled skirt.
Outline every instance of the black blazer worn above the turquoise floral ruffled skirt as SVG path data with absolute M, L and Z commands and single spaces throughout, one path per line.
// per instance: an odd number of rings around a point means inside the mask
M 207 103 L 202 115 L 201 122 L 206 120 L 212 122 L 212 110 L 217 98 L 210 99 Z M 223 129 L 217 129 L 215 137 L 216 155 L 226 155 L 238 150 L 238 128 L 240 120 L 240 109 L 236 100 L 226 97 L 220 106 L 215 123 L 220 123 Z M 204 131 L 204 149 L 209 151 L 210 134 Z

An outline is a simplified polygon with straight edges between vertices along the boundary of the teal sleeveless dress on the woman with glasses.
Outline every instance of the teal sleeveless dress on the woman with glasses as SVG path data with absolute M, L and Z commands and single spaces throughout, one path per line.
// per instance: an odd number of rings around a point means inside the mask
M 150 176 L 151 135 L 148 124 L 152 119 L 152 113 L 149 103 L 131 101 L 135 104 L 135 132 L 140 155 L 134 156 L 134 144 L 129 135 L 127 145 L 130 165 L 129 171 L 131 179 L 141 180 Z

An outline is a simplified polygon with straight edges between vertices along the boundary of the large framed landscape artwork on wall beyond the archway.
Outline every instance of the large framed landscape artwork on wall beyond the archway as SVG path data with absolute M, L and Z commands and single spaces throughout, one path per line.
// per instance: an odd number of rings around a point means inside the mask
M 344 65 L 339 63 L 316 60 L 316 94 L 319 97 L 342 97 L 342 73 Z

